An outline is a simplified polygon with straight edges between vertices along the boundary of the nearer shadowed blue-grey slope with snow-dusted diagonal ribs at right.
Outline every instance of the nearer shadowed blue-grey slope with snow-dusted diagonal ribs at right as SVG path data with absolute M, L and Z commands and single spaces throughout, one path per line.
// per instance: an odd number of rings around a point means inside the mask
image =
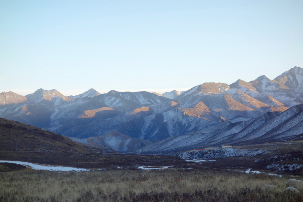
M 220 122 L 189 134 L 169 137 L 150 144 L 137 152 L 193 150 L 204 147 L 221 147 L 225 144 L 247 145 L 303 139 L 303 104 L 284 112 L 267 112 L 251 123 Z

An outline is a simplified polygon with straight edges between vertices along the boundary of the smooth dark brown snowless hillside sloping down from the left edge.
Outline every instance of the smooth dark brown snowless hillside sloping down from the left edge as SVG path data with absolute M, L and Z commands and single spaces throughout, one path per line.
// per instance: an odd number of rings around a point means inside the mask
M 0 138 L 1 151 L 89 153 L 67 137 L 4 118 L 0 118 Z

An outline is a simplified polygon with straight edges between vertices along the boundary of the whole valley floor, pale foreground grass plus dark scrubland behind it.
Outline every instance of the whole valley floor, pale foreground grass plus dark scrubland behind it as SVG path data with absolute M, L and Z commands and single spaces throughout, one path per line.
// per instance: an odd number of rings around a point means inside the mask
M 303 202 L 303 190 L 299 194 L 285 192 L 288 179 L 303 180 L 302 167 L 289 167 L 303 164 L 302 142 L 293 143 L 241 146 L 237 149 L 266 152 L 203 160 L 168 155 L 112 153 L 104 157 L 103 154 L 1 151 L 1 161 L 90 171 L 42 171 L 0 163 L 0 201 Z M 277 188 L 263 190 L 265 183 Z

